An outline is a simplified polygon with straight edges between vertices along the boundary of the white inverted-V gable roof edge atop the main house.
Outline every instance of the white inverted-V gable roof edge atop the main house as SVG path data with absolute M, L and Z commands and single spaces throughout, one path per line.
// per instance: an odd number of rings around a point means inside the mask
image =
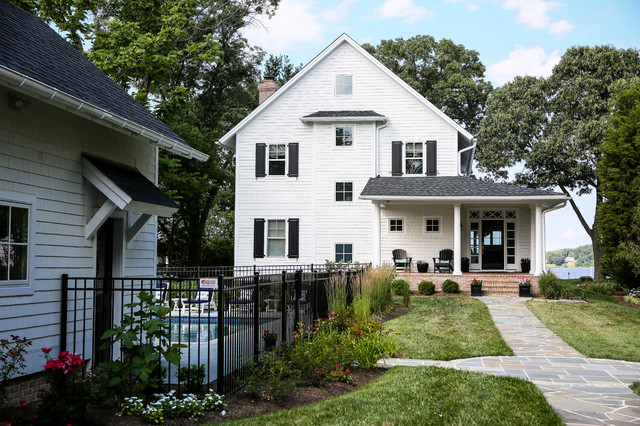
M 347 34 L 343 33 L 340 37 L 335 39 L 333 43 L 331 43 L 327 48 L 325 48 L 318 56 L 316 56 L 311 62 L 302 68 L 291 80 L 286 82 L 279 90 L 277 90 L 273 95 L 269 96 L 269 98 L 264 101 L 258 108 L 254 109 L 251 114 L 246 116 L 244 120 L 238 123 L 233 129 L 229 130 L 224 136 L 220 138 L 220 143 L 227 146 L 229 149 L 235 149 L 235 135 L 242 128 L 244 128 L 247 124 L 249 124 L 256 116 L 258 116 L 263 110 L 269 107 L 276 99 L 283 96 L 291 87 L 293 87 L 296 82 L 303 79 L 307 74 L 313 70 L 316 65 L 318 65 L 324 58 L 329 56 L 332 52 L 334 52 L 340 45 L 343 43 L 347 43 L 351 45 L 358 53 L 360 53 L 363 57 L 371 61 L 373 65 L 375 65 L 378 69 L 384 72 L 389 78 L 398 83 L 400 87 L 413 95 L 418 101 L 420 101 L 423 105 L 425 105 L 428 109 L 434 112 L 438 117 L 444 120 L 447 124 L 453 127 L 456 131 L 461 133 L 465 138 L 472 140 L 473 135 L 469 133 L 466 129 L 456 123 L 451 117 L 442 112 L 439 108 L 433 105 L 429 100 L 427 100 L 424 96 L 418 93 L 414 88 L 409 86 L 404 80 L 395 75 L 389 68 L 384 66 L 380 61 L 371 56 L 369 52 L 364 50 L 358 43 L 356 43 L 351 37 Z

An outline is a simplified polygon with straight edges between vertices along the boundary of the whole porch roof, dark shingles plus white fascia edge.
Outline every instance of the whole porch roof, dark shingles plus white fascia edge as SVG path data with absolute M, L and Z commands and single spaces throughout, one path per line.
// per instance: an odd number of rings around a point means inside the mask
M 511 198 L 513 197 L 513 198 Z M 370 178 L 360 193 L 364 200 L 379 201 L 549 201 L 559 204 L 569 197 L 561 192 L 526 188 L 466 176 L 393 176 Z

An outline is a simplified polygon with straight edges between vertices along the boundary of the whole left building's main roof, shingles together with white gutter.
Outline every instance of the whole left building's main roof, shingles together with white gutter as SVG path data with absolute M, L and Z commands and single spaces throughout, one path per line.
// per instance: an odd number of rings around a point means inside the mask
M 6 0 L 0 0 L 0 83 L 128 130 L 183 157 L 209 157 L 191 148 L 49 25 Z

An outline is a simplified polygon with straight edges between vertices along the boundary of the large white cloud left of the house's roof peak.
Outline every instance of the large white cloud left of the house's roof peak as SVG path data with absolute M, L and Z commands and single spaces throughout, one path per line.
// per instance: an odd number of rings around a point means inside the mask
M 253 45 L 267 52 L 284 52 L 306 42 L 323 39 L 325 23 L 310 9 L 313 3 L 305 0 L 282 0 L 271 19 L 244 31 Z

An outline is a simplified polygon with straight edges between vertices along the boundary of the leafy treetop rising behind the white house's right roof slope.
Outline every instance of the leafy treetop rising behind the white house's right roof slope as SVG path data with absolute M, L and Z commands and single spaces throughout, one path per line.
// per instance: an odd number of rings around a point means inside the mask
M 428 35 L 362 47 L 469 132 L 478 131 L 492 90 L 478 52 Z

